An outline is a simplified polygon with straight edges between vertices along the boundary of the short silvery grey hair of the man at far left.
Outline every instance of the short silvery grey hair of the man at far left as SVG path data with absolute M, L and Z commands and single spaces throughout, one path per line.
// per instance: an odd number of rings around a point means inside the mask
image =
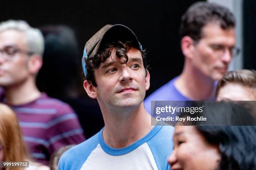
M 18 30 L 27 38 L 28 50 L 43 56 L 44 36 L 37 28 L 33 28 L 24 20 L 7 20 L 0 23 L 0 32 L 5 30 Z

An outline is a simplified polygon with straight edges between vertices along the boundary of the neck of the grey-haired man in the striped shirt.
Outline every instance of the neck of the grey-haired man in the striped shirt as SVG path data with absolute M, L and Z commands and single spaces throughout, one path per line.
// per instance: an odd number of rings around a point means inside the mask
M 13 106 L 29 103 L 41 96 L 34 79 L 27 79 L 20 84 L 6 86 L 4 91 L 7 104 Z

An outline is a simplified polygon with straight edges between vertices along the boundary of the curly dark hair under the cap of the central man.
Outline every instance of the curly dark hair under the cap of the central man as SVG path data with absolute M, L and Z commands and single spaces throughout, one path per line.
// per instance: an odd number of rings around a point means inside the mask
M 127 52 L 131 49 L 132 42 L 131 41 L 113 41 L 112 43 L 106 44 L 102 50 L 98 51 L 94 57 L 90 57 L 87 60 L 85 60 L 86 63 L 86 69 L 87 69 L 87 75 L 85 79 L 92 83 L 93 86 L 97 87 L 97 83 L 95 81 L 95 75 L 94 71 L 97 70 L 100 67 L 100 63 L 104 63 L 108 57 L 111 55 L 111 51 L 115 49 L 115 55 L 118 58 L 125 58 L 125 63 L 128 62 L 128 56 Z M 145 71 L 148 69 L 148 65 L 146 62 L 146 51 L 140 50 L 143 66 L 145 68 Z M 147 75 L 147 74 L 146 74 Z

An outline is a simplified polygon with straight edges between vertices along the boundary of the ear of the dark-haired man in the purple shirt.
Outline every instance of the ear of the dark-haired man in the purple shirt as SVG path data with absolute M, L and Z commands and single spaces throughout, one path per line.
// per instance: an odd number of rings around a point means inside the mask
M 194 53 L 194 40 L 189 36 L 184 36 L 181 40 L 182 53 L 187 58 L 192 58 Z

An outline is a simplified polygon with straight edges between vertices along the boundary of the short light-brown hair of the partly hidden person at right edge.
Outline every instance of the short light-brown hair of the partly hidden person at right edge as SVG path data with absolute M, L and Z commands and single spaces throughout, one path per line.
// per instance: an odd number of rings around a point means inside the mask
M 215 97 L 217 98 L 220 89 L 228 83 L 241 84 L 256 90 L 256 71 L 255 70 L 236 70 L 227 71 L 223 77 L 218 81 Z M 256 97 L 256 93 L 254 93 Z

